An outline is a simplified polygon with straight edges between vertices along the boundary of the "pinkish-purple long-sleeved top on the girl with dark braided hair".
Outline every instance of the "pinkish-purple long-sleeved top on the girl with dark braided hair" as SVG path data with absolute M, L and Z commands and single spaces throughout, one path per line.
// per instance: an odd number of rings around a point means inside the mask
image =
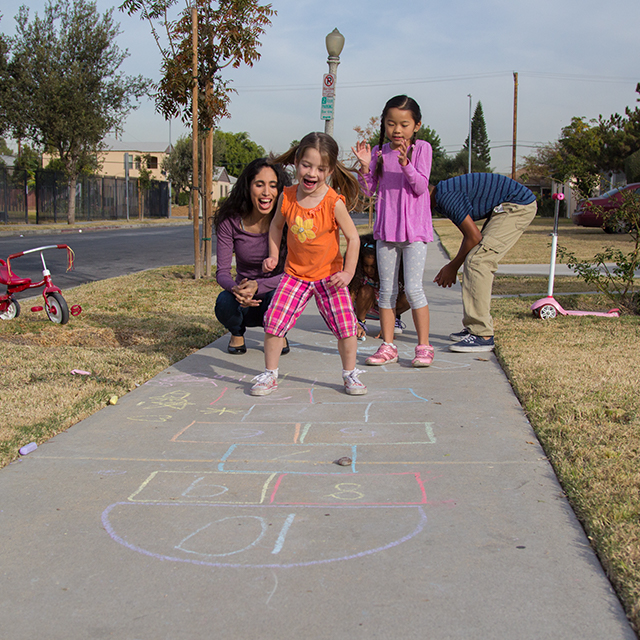
M 431 198 L 429 174 L 431 173 L 431 145 L 416 140 L 411 160 L 406 167 L 398 162 L 398 151 L 389 143 L 382 147 L 382 175 L 376 178 L 378 146 L 371 152 L 371 166 L 366 176 L 360 176 L 360 184 L 367 195 L 378 189 L 376 223 L 373 237 L 385 242 L 432 242 Z

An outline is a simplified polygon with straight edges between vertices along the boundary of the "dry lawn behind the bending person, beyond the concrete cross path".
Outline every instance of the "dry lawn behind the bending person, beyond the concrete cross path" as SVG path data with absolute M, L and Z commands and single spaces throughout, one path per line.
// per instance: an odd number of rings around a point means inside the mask
M 481 228 L 482 224 L 478 224 Z M 462 234 L 453 222 L 435 218 L 433 228 L 440 236 L 442 246 L 449 256 L 460 248 Z M 553 218 L 535 218 L 515 246 L 501 261 L 502 264 L 546 264 L 551 259 L 551 237 Z M 628 253 L 633 240 L 626 233 L 607 234 L 602 229 L 578 227 L 571 220 L 559 221 L 558 244 L 570 249 L 579 260 L 588 260 L 605 247 L 619 248 Z

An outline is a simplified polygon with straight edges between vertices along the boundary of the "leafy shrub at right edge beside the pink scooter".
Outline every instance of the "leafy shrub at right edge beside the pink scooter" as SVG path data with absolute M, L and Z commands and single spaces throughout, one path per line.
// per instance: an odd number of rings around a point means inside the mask
M 558 247 L 558 255 L 587 284 L 593 285 L 616 306 L 640 315 L 640 286 L 635 279 L 635 272 L 640 268 L 640 194 L 628 190 L 620 192 L 620 196 L 619 208 L 605 212 L 601 207 L 593 207 L 593 211 L 603 216 L 606 225 L 629 233 L 634 240 L 629 253 L 607 247 L 591 260 L 578 260 L 565 247 Z

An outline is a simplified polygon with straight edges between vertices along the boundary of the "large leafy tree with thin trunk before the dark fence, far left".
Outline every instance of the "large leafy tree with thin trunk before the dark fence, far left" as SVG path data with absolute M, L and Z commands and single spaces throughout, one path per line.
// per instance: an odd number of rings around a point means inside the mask
M 127 57 L 116 44 L 113 10 L 91 0 L 49 0 L 42 17 L 16 16 L 6 101 L 15 137 L 57 153 L 69 179 L 68 222 L 75 221 L 75 186 L 95 163 L 110 130 L 119 131 L 148 82 L 119 72 Z

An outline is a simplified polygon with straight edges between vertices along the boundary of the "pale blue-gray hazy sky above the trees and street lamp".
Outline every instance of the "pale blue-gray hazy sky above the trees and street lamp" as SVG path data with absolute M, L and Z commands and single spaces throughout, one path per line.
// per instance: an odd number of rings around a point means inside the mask
M 45 0 L 25 3 L 42 13 Z M 112 6 L 98 0 L 104 12 Z M 640 81 L 638 0 L 273 0 L 277 11 L 252 68 L 226 69 L 237 90 L 223 131 L 246 131 L 267 151 L 324 131 L 320 119 L 325 36 L 345 36 L 337 72 L 334 137 L 347 154 L 357 125 L 379 116 L 398 94 L 413 97 L 423 124 L 455 154 L 469 131 L 469 102 L 482 107 L 491 166 L 512 163 L 514 72 L 518 73 L 517 159 L 557 140 L 573 116 L 608 117 L 635 108 Z M 0 0 L 0 30 L 11 34 L 14 0 Z M 146 23 L 117 10 L 122 70 L 160 77 Z M 471 95 L 471 99 L 469 98 Z M 640 106 L 640 105 L 638 105 Z M 145 100 L 124 123 L 122 141 L 175 142 L 187 129 L 167 123 Z

